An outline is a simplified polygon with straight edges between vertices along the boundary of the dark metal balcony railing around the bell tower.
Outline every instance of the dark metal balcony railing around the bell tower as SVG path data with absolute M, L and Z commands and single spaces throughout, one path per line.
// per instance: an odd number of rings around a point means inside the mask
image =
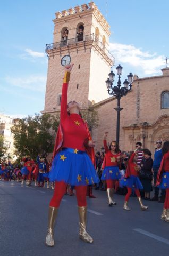
M 70 45 L 73 45 L 73 44 L 78 45 L 80 43 L 85 43 L 90 41 L 94 41 L 100 47 L 100 49 L 104 51 L 104 53 L 108 56 L 108 58 L 111 59 L 111 61 L 114 63 L 113 55 L 106 49 L 105 45 L 102 42 L 100 42 L 97 36 L 95 36 L 94 34 L 75 37 L 75 38 L 63 40 L 60 42 L 56 42 L 53 44 L 46 44 L 46 52 L 49 50 L 61 49 L 62 47 L 69 47 Z

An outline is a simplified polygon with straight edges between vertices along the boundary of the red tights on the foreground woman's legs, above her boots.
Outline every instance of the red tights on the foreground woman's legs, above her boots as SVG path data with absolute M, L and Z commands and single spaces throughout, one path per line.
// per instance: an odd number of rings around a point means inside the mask
M 50 206 L 52 207 L 59 207 L 62 197 L 65 194 L 67 184 L 64 181 L 56 181 L 55 182 L 55 190 L 53 197 L 50 201 Z M 77 196 L 77 201 L 78 201 L 78 206 L 86 206 L 87 201 L 86 201 L 86 191 L 87 191 L 87 186 L 75 186 L 76 190 L 76 196 Z

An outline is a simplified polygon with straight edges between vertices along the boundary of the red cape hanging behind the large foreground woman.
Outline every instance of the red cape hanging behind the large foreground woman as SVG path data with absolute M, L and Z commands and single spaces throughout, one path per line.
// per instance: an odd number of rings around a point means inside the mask
M 88 129 L 88 125 L 85 121 L 84 121 L 84 123 L 85 123 L 86 130 L 87 130 L 87 133 L 88 133 L 88 140 L 92 140 L 89 129 Z M 61 126 L 61 124 L 59 124 L 58 130 L 57 130 L 57 133 L 56 133 L 55 146 L 54 146 L 52 160 L 54 159 L 56 154 L 62 149 L 62 143 L 63 143 L 63 132 L 62 132 L 62 126 Z M 89 155 L 92 163 L 96 167 L 94 148 L 93 147 L 87 147 L 86 148 L 86 153 Z

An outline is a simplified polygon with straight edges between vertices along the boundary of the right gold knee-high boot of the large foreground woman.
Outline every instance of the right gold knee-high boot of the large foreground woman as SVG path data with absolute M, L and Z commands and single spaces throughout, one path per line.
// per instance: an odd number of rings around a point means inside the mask
M 80 239 L 82 239 L 87 243 L 92 243 L 94 242 L 94 240 L 86 232 L 87 207 L 86 206 L 78 207 L 78 212 L 79 212 L 79 227 L 80 227 L 79 237 Z

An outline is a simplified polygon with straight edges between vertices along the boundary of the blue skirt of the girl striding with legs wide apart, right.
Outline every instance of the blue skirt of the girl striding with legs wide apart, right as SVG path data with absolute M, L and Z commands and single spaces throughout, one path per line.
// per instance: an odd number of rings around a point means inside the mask
M 120 180 L 120 187 L 128 187 L 132 189 L 143 189 L 141 181 L 137 176 L 130 175 L 128 178 L 123 178 Z

